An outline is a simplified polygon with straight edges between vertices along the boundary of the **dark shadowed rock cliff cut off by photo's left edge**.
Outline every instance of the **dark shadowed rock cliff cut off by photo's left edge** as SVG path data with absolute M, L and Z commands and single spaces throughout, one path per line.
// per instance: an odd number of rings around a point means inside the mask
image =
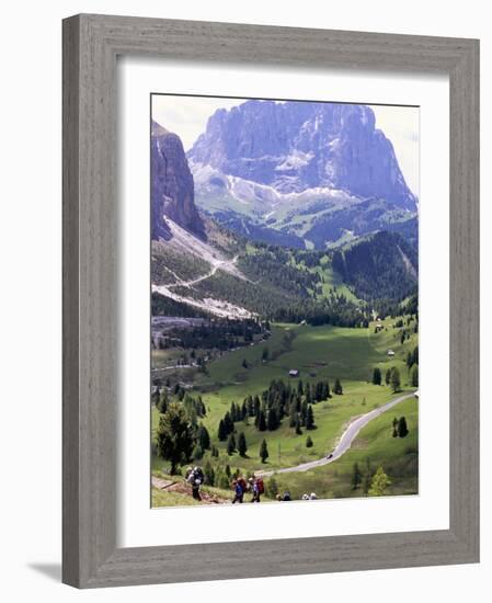
M 194 202 L 193 175 L 180 137 L 152 122 L 150 156 L 152 239 L 170 238 L 164 216 L 205 238 L 204 224 Z

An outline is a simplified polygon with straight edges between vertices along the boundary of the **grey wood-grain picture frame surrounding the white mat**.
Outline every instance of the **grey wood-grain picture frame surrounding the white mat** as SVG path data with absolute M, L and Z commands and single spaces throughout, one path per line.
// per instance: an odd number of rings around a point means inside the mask
M 449 76 L 449 530 L 116 548 L 118 55 Z M 64 21 L 62 542 L 62 580 L 79 588 L 479 560 L 478 41 L 89 14 Z

